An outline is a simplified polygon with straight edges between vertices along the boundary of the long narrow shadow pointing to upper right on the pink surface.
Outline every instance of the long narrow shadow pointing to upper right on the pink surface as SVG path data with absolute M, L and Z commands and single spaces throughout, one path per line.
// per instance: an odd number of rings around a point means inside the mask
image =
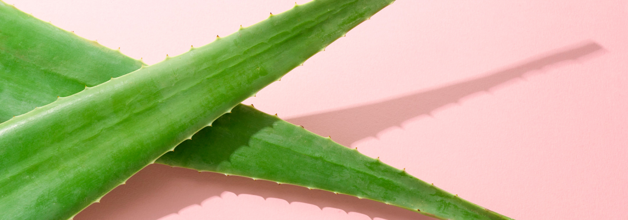
M 287 119 L 287 121 L 305 126 L 308 131 L 313 133 L 332 136 L 333 141 L 344 146 L 350 146 L 360 139 L 375 137 L 377 133 L 386 128 L 400 126 L 408 119 L 430 114 L 438 108 L 457 103 L 466 96 L 489 91 L 489 89 L 503 85 L 512 79 L 521 78 L 531 71 L 543 69 L 562 61 L 583 59 L 588 54 L 603 50 L 602 46 L 595 42 L 584 42 L 462 83 L 409 94 L 379 103 Z M 369 118 L 369 120 L 363 120 L 364 118 Z

